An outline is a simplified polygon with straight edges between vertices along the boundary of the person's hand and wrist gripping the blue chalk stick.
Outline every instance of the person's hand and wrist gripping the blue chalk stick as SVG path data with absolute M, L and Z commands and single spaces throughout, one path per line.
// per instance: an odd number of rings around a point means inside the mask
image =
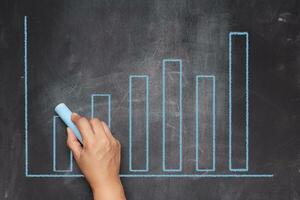
M 125 195 L 119 177 L 121 145 L 115 139 L 105 122 L 88 120 L 73 113 L 72 121 L 79 129 L 81 145 L 70 128 L 67 128 L 67 145 L 89 182 L 94 199 L 124 200 Z

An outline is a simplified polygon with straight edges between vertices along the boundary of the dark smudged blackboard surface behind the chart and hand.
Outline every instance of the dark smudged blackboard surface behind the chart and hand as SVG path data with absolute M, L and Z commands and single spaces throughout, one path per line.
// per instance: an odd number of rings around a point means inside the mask
M 195 162 L 194 76 L 211 73 L 217 83 L 217 170 L 227 173 L 228 33 L 245 31 L 250 45 L 249 168 L 274 177 L 123 178 L 126 195 L 130 200 L 300 199 L 299 0 L 1 0 L 0 199 L 92 198 L 84 178 L 25 177 L 25 15 L 31 172 L 52 170 L 53 107 L 63 101 L 89 115 L 90 94 L 97 92 L 112 94 L 112 131 L 123 145 L 122 172 L 128 171 L 131 74 L 149 75 L 149 167 L 161 170 L 161 63 L 180 58 L 184 170 Z

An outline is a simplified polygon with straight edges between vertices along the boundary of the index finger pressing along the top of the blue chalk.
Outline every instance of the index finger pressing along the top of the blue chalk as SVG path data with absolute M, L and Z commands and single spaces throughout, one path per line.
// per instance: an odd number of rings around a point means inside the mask
M 79 129 L 83 143 L 92 141 L 94 137 L 94 132 L 89 121 L 85 117 L 81 117 L 77 113 L 73 113 L 71 119 Z

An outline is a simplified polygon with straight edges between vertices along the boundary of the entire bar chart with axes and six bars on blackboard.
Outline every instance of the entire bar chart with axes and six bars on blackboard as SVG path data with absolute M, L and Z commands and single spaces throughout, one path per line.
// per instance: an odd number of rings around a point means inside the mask
M 24 115 L 25 115 L 25 176 L 26 177 L 82 177 L 83 175 L 79 172 L 74 172 L 74 161 L 72 153 L 69 152 L 68 166 L 65 168 L 58 167 L 57 151 L 58 144 L 57 140 L 61 133 L 58 129 L 58 116 L 49 116 L 52 119 L 52 168 L 47 173 L 37 173 L 30 169 L 30 138 L 31 132 L 29 130 L 29 71 L 30 64 L 28 63 L 28 47 L 30 43 L 30 27 L 29 18 L 24 17 Z M 236 112 L 236 105 L 232 101 L 232 97 L 235 94 L 235 90 L 232 85 L 234 84 L 233 71 L 235 69 L 234 63 L 232 62 L 232 49 L 233 40 L 242 39 L 244 41 L 245 49 L 245 60 L 243 61 L 243 107 L 241 112 Z M 180 58 L 165 58 L 162 59 L 161 70 L 162 70 L 162 99 L 161 99 L 161 141 L 162 147 L 161 160 L 159 171 L 153 170 L 151 166 L 152 160 L 150 159 L 151 145 L 149 143 L 150 131 L 150 98 L 151 92 L 149 84 L 151 78 L 148 74 L 131 74 L 128 77 L 128 171 L 121 173 L 121 177 L 127 178 L 271 178 L 272 173 L 258 173 L 250 170 L 249 167 L 249 34 L 247 32 L 230 32 L 228 35 L 229 43 L 229 55 L 228 55 L 228 170 L 227 172 L 219 172 L 217 170 L 217 158 L 216 158 L 216 144 L 218 140 L 218 133 L 216 132 L 216 85 L 218 84 L 216 76 L 214 74 L 198 74 L 194 77 L 194 91 L 195 91 L 195 105 L 194 106 L 194 152 L 195 162 L 192 166 L 193 171 L 186 172 L 184 170 L 183 162 L 183 61 Z M 137 87 L 138 86 L 138 87 Z M 137 90 L 136 88 L 139 88 Z M 112 119 L 112 99 L 114 96 L 109 92 L 105 93 L 92 93 L 90 95 L 90 111 L 91 117 L 95 116 L 96 111 L 101 115 L 101 118 L 107 122 L 108 126 L 111 127 Z M 172 102 L 172 103 L 168 103 Z M 98 106 L 96 108 L 96 105 Z M 99 105 L 101 108 L 99 108 Z M 234 112 L 233 112 L 234 110 Z M 138 111 L 138 113 L 137 113 Z M 203 111 L 203 112 L 200 112 Z M 239 134 L 243 134 L 244 142 L 242 147 L 244 149 L 244 155 L 242 155 L 242 166 L 235 163 L 234 148 L 234 129 L 232 124 L 235 123 L 235 115 L 242 115 L 243 131 Z M 138 119 L 139 123 L 134 123 Z M 143 130 L 137 133 L 137 129 Z M 140 149 L 143 152 L 143 159 L 137 164 L 134 162 L 134 158 L 137 154 L 135 146 L 140 147 L 141 144 L 137 144 L 140 140 L 136 141 L 136 134 L 144 136 L 143 147 Z M 206 142 L 202 141 L 206 138 Z M 208 141 L 209 140 L 209 141 Z M 122 141 L 121 141 L 122 143 Z M 240 155 L 239 155 L 240 156 Z M 168 159 L 172 157 L 173 159 Z

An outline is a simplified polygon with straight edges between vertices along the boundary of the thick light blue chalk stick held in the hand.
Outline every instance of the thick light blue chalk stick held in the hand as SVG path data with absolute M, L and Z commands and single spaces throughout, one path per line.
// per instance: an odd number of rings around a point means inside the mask
M 55 107 L 55 112 L 58 114 L 58 116 L 63 120 L 63 122 L 72 129 L 73 133 L 75 134 L 76 138 L 81 142 L 82 144 L 82 138 L 80 135 L 80 132 L 76 125 L 71 120 L 72 111 L 64 104 L 60 103 Z

